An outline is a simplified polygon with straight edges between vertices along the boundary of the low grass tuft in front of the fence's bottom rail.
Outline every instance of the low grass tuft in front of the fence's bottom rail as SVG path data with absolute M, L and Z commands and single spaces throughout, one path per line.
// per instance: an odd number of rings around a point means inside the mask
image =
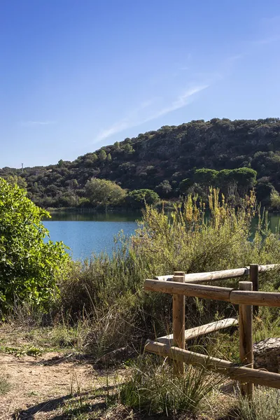
M 120 386 L 120 402 L 148 415 L 195 412 L 221 382 L 220 376 L 207 372 L 204 367 L 188 367 L 183 377 L 178 377 L 167 359 L 145 356 L 137 360 L 130 376 Z

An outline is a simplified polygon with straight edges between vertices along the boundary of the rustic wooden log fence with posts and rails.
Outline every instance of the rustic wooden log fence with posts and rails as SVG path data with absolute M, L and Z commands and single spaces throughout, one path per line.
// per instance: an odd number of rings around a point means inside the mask
M 280 265 L 251 264 L 249 267 L 217 272 L 195 274 L 174 272 L 173 276 L 158 276 L 153 280 L 147 279 L 144 284 L 145 290 L 171 293 L 173 295 L 173 334 L 156 340 L 148 339 L 145 344 L 146 351 L 172 358 L 176 374 L 183 374 L 184 363 L 188 363 L 190 365 L 205 366 L 210 370 L 236 379 L 241 383 L 242 393 L 248 398 L 252 398 L 253 384 L 280 389 L 279 373 L 253 369 L 253 312 L 257 314 L 259 306 L 280 307 L 280 293 L 258 291 L 258 274 L 276 268 L 280 268 Z M 201 282 L 234 279 L 241 276 L 250 276 L 250 281 L 239 281 L 238 290 L 200 284 Z M 227 318 L 185 330 L 185 296 L 223 300 L 232 304 L 238 304 L 238 319 Z M 241 365 L 235 365 L 228 360 L 205 356 L 185 349 L 188 339 L 221 330 L 222 328 L 228 328 L 232 325 L 239 325 L 239 356 Z

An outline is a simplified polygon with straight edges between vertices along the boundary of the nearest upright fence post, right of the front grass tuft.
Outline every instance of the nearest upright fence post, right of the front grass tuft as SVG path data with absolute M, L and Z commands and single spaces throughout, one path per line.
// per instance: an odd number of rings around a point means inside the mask
M 239 290 L 253 290 L 251 281 L 239 281 Z M 241 363 L 253 369 L 253 307 L 239 304 L 239 354 Z M 241 384 L 241 393 L 253 398 L 253 384 Z

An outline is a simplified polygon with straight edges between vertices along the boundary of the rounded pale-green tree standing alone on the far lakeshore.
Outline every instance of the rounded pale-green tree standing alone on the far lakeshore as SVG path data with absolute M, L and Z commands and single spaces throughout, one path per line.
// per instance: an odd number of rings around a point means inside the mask
M 92 178 L 85 185 L 85 193 L 94 205 L 116 205 L 125 197 L 125 190 L 113 181 Z

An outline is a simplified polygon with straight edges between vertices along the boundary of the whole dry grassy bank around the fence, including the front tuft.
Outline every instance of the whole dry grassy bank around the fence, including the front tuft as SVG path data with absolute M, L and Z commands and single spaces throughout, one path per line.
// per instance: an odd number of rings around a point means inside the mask
M 183 206 L 175 207 L 171 217 L 147 207 L 136 235 L 131 239 L 119 235 L 116 239 L 118 246 L 113 258 L 104 253 L 84 262 L 67 262 L 57 278 L 59 293 L 47 312 L 41 313 L 25 304 L 11 309 L 2 325 L 2 331 L 6 328 L 2 351 L 10 349 L 16 353 L 31 351 L 30 348 L 35 353 L 36 349 L 38 352 L 71 351 L 90 356 L 92 363 L 103 367 L 113 361 L 126 366 L 127 374 L 121 384 L 116 384 L 110 404 L 114 401 L 113 404 L 132 409 L 143 418 L 183 413 L 185 418 L 218 419 L 214 401 L 217 405 L 222 401 L 218 407 L 223 406 L 221 377 L 213 378 L 209 372 L 192 368 L 186 370 L 186 377 L 179 383 L 167 362 L 142 356 L 145 340 L 167 334 L 172 323 L 171 296 L 145 292 L 146 278 L 172 274 L 175 270 L 207 272 L 280 260 L 279 234 L 269 230 L 267 218 L 260 214 L 253 193 L 238 209 L 227 204 L 216 190 L 210 192 L 209 203 L 211 215 L 207 217 L 204 204 L 195 197 L 188 197 Z M 256 214 L 259 223 L 252 234 L 251 221 Z M 237 286 L 238 280 L 215 284 Z M 279 286 L 276 270 L 260 274 L 260 290 L 279 290 Z M 186 328 L 236 314 L 237 308 L 227 302 L 186 298 Z M 279 311 L 261 307 L 254 320 L 255 341 L 279 335 L 279 325 Z M 18 333 L 19 328 L 25 332 L 24 337 Z M 234 328 L 190 342 L 188 348 L 239 360 L 238 335 Z M 104 358 L 114 351 L 111 358 Z M 270 391 L 269 395 L 272 400 L 276 398 Z M 88 400 L 84 402 L 88 404 Z M 261 420 L 266 415 L 259 416 L 257 406 L 248 407 L 235 394 L 223 410 L 224 419 L 230 419 L 228 413 L 232 409 L 237 419 Z M 252 414 L 253 409 L 258 413 Z M 187 412 L 193 414 L 186 417 Z M 203 417 L 204 412 L 207 414 Z M 279 412 L 275 413 L 270 418 L 278 419 Z

